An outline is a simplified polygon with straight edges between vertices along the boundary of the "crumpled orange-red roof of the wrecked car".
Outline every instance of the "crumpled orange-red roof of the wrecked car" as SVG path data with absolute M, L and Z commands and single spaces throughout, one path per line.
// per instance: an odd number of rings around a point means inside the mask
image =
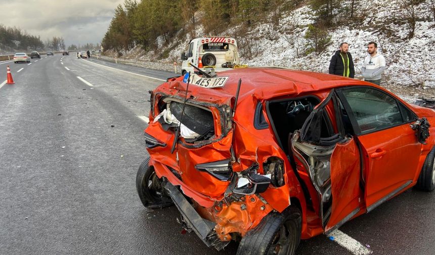
M 219 72 L 219 76 L 229 76 L 224 87 L 206 89 L 199 86 L 189 86 L 189 91 L 192 91 L 193 94 L 201 95 L 201 101 L 228 104 L 229 100 L 236 95 L 239 79 L 242 80 L 239 100 L 252 97 L 257 99 L 271 99 L 280 96 L 295 97 L 307 92 L 362 84 L 378 87 L 363 80 L 338 75 L 275 67 L 236 68 L 230 71 Z M 177 78 L 173 82 L 180 82 L 182 80 L 183 77 Z M 174 88 L 172 82 L 162 84 L 161 91 L 167 92 L 167 89 L 170 88 Z M 177 90 L 186 91 L 186 83 L 180 82 Z

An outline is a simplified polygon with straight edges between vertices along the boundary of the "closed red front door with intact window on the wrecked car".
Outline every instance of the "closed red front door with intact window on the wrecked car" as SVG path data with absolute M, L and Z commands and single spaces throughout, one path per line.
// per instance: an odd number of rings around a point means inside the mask
M 362 147 L 367 211 L 413 182 L 421 144 L 410 122 L 415 115 L 393 96 L 373 87 L 338 92 Z

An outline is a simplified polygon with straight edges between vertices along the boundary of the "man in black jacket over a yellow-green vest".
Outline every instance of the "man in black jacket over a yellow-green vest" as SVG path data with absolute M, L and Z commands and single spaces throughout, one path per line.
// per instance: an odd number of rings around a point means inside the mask
M 330 74 L 351 78 L 355 76 L 354 61 L 352 60 L 352 55 L 347 52 L 348 50 L 349 44 L 340 44 L 340 50 L 332 55 L 331 62 L 329 63 Z

